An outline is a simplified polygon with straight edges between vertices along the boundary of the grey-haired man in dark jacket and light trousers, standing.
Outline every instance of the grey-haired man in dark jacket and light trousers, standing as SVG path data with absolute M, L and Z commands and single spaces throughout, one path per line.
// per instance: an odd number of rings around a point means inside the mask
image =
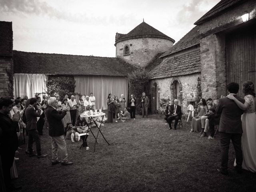
M 48 100 L 48 108 L 45 109 L 46 117 L 49 123 L 49 135 L 52 141 L 52 165 L 58 164 L 58 148 L 61 150 L 60 159 L 62 165 L 71 165 L 73 162 L 68 162 L 68 152 L 66 141 L 64 139 L 64 126 L 62 119 L 66 115 L 66 110 L 58 112 L 56 110 L 58 101 L 55 97 L 50 97 Z

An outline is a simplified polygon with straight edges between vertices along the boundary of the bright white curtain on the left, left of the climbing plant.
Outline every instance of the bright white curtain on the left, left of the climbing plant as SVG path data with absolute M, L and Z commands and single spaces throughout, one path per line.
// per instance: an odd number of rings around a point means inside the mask
M 47 76 L 45 74 L 14 74 L 14 97 L 28 96 L 46 92 Z

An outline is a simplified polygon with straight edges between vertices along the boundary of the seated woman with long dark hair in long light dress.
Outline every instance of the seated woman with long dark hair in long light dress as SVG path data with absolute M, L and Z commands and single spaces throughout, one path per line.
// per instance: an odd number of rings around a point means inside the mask
M 207 114 L 207 111 L 208 107 L 206 104 L 206 100 L 201 99 L 197 108 L 198 116 L 192 118 L 190 133 L 199 132 L 202 129 L 201 117 L 205 116 Z

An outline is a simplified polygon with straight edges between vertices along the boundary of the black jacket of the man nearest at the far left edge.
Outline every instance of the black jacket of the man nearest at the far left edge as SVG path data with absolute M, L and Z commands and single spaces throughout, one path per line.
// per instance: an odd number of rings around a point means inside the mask
M 8 115 L 0 113 L 0 127 L 2 129 L 2 136 L 0 137 L 0 152 L 1 154 L 14 156 L 18 149 L 18 136 L 16 130 L 18 129 L 18 122 L 14 122 Z

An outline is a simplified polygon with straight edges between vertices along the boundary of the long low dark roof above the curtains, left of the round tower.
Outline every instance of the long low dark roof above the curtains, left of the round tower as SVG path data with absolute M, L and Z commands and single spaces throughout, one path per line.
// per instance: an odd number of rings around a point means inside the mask
M 127 76 L 137 69 L 120 58 L 13 51 L 14 73 Z

